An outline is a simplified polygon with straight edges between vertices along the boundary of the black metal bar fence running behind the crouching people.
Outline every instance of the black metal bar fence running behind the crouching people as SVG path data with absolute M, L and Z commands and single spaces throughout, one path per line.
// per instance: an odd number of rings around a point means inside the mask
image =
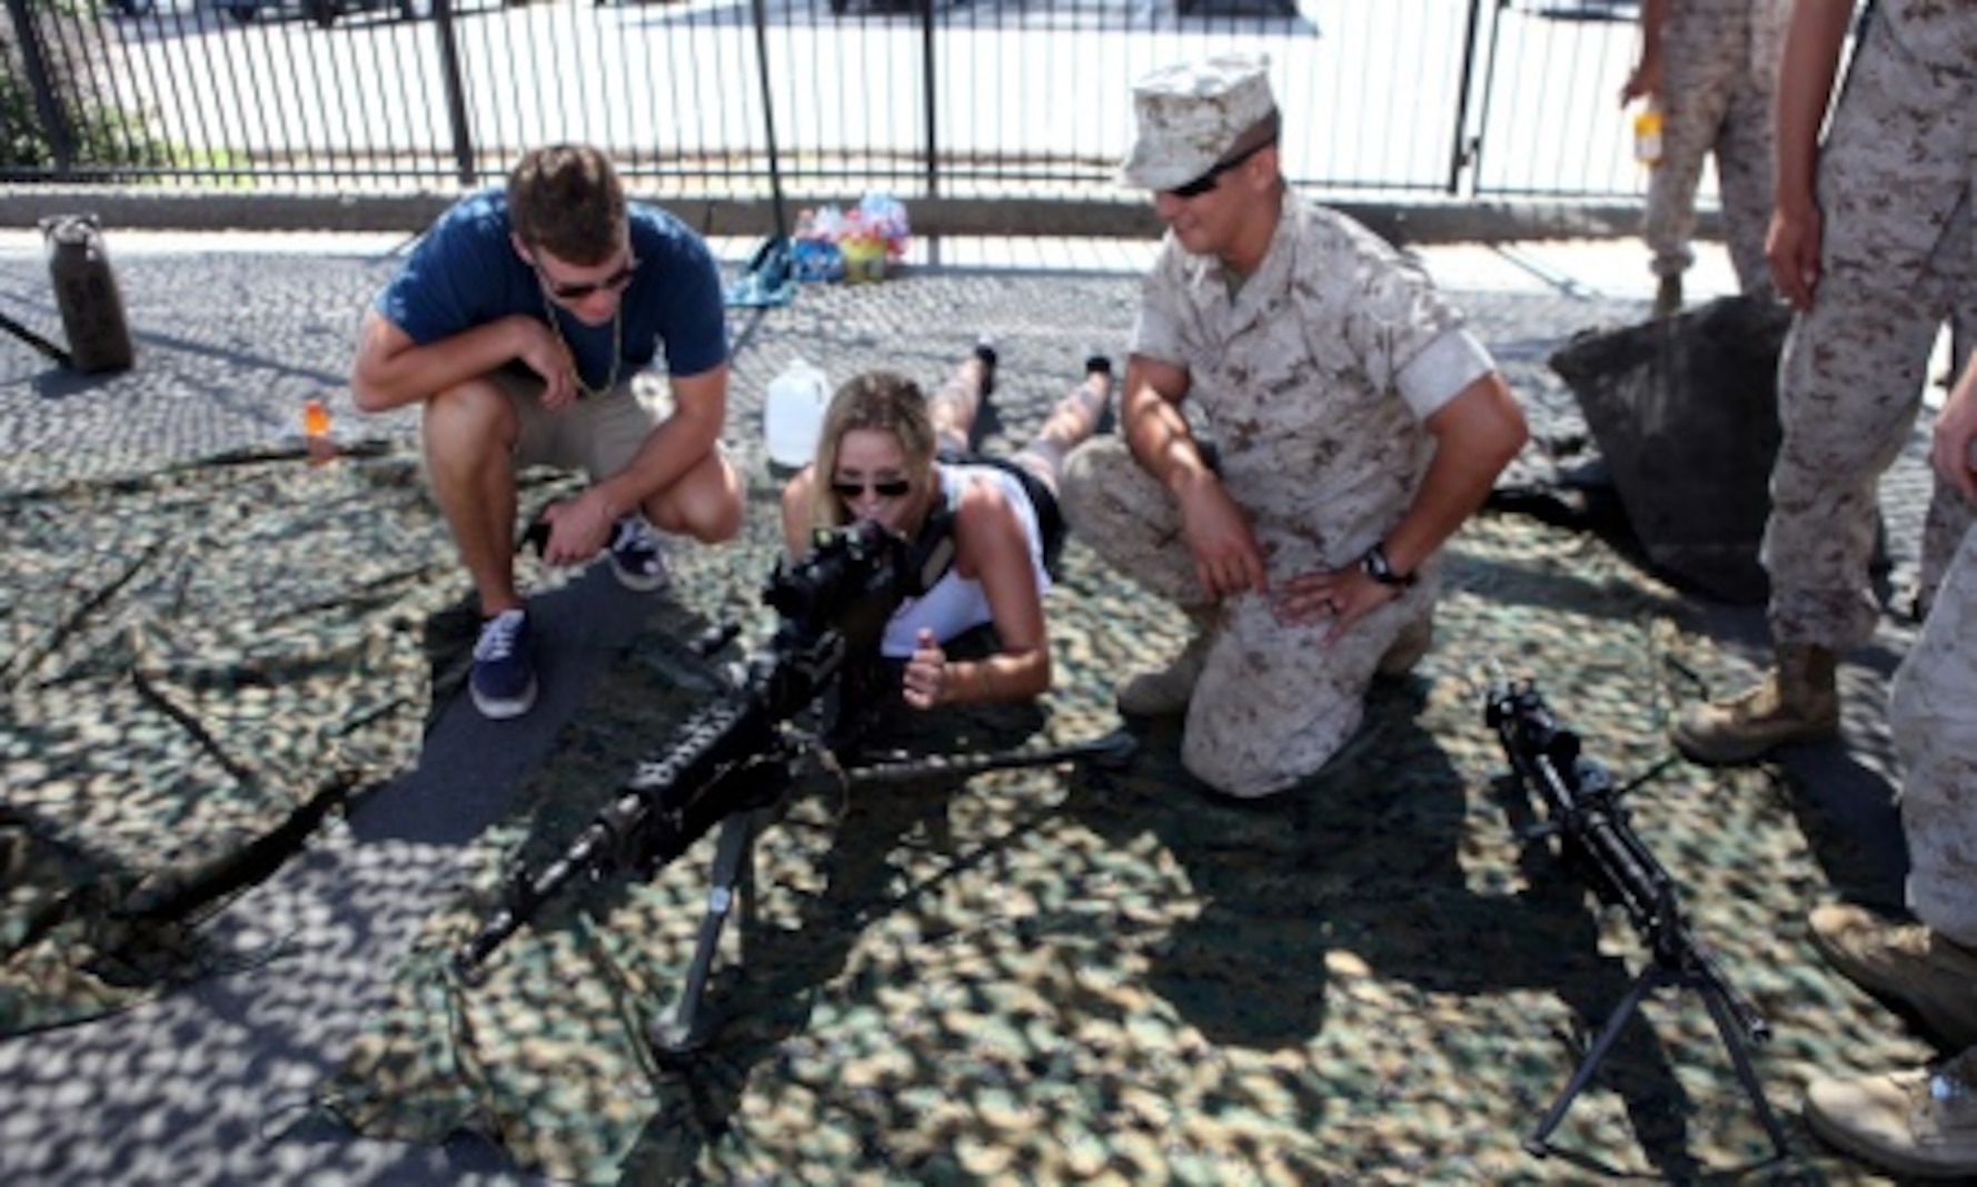
M 656 198 L 1137 198 L 1131 79 L 1269 55 L 1334 194 L 1623 198 L 1595 0 L 4 0 L 0 182 L 451 194 L 552 138 Z

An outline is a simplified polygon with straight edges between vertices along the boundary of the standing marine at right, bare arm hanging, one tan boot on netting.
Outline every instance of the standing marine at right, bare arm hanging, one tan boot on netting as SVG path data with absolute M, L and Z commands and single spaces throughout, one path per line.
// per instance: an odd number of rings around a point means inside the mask
M 1676 718 L 1675 742 L 1696 762 L 1756 762 L 1839 732 L 1835 665 L 1878 621 L 1880 477 L 1916 423 L 1941 322 L 1977 324 L 1977 4 L 1878 0 L 1819 146 L 1850 22 L 1852 0 L 1799 0 L 1785 38 L 1767 255 L 1799 313 L 1779 360 L 1783 441 L 1762 554 L 1773 669 Z M 1971 510 L 1937 475 L 1918 607 Z

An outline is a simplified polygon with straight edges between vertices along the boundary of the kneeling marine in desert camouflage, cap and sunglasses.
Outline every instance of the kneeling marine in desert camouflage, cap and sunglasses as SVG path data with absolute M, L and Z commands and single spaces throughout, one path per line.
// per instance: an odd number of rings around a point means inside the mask
M 1068 459 L 1064 510 L 1198 629 L 1172 667 L 1123 683 L 1119 708 L 1186 710 L 1186 768 L 1267 795 L 1352 736 L 1376 671 L 1427 649 L 1437 550 L 1526 427 L 1427 277 L 1285 186 L 1261 59 L 1157 71 L 1135 115 L 1125 180 L 1155 192 L 1168 233 L 1119 435 Z

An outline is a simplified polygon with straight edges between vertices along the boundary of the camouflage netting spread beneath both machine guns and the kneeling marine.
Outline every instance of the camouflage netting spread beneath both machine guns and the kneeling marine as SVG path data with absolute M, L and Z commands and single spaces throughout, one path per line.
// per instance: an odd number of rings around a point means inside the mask
M 1451 556 L 1437 645 L 1378 686 L 1360 740 L 1259 805 L 1206 795 L 1155 730 L 1125 772 L 1000 772 L 801 795 L 755 847 L 745 973 L 690 1060 L 645 1029 L 678 1001 L 712 841 L 648 882 L 542 910 L 484 967 L 453 952 L 516 859 L 558 855 L 714 686 L 654 635 L 589 696 L 512 815 L 467 855 L 320 1100 L 370 1136 L 492 1136 L 577 1181 L 1503 1181 L 1643 948 L 1588 910 L 1504 764 L 1471 673 L 1542 677 L 1633 793 L 1698 934 L 1777 1029 L 1760 1074 L 1799 1151 L 1815 1070 L 1922 1052 L 1864 1019 L 1803 938 L 1847 841 L 1795 819 L 1775 770 L 1667 764 L 1661 724 L 1716 673 L 1682 603 L 1605 544 L 1483 516 Z M 682 582 L 692 603 L 700 586 Z M 731 609 L 731 607 L 730 607 Z M 714 613 L 728 613 L 718 609 Z M 684 615 L 674 631 L 694 625 Z M 1060 686 L 969 746 L 1115 728 L 1111 677 L 1178 645 L 1176 615 L 1081 548 L 1052 595 Z M 1837 849 L 1835 849 L 1837 847 Z M 1698 995 L 1649 999 L 1554 1141 L 1593 1167 L 1688 1179 L 1769 1151 Z M 1823 1171 L 1852 1173 L 1815 1155 Z M 1554 1159 L 1556 1161 L 1556 1159 Z M 1582 1167 L 1584 1169 L 1584 1167 Z

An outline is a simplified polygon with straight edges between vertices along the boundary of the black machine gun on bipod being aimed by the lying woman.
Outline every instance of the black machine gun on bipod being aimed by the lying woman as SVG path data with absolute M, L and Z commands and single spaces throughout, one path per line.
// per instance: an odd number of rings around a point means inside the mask
M 945 574 L 951 554 L 945 530 L 931 540 L 907 542 L 860 520 L 820 528 L 803 558 L 779 562 L 763 590 L 763 601 L 779 615 L 767 649 L 737 665 L 730 692 L 690 716 L 654 758 L 635 768 L 561 857 L 514 876 L 506 902 L 455 954 L 455 971 L 474 977 L 494 950 L 569 882 L 603 880 L 621 870 L 650 878 L 722 825 L 714 886 L 686 991 L 674 1017 L 654 1023 L 648 1035 L 660 1054 L 684 1054 L 704 1045 L 714 1023 L 702 1013 L 702 999 L 737 888 L 743 910 L 753 910 L 753 839 L 797 787 L 805 760 L 832 744 L 820 732 L 801 730 L 795 718 L 832 690 L 840 702 L 856 700 L 850 688 L 840 686 L 846 669 L 878 657 L 886 621 L 900 601 L 931 588 Z M 722 641 L 730 637 L 731 629 Z M 836 716 L 842 720 L 856 708 L 838 704 Z M 1121 758 L 1127 744 L 1119 734 L 1048 750 L 852 768 L 840 777 L 898 779 L 929 770 L 973 774 L 1074 758 Z

